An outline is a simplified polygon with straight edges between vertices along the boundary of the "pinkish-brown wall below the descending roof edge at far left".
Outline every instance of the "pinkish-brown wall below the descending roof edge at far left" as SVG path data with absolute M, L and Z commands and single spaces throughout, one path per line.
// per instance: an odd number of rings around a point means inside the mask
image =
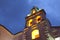
M 13 40 L 13 35 L 0 26 L 0 40 Z

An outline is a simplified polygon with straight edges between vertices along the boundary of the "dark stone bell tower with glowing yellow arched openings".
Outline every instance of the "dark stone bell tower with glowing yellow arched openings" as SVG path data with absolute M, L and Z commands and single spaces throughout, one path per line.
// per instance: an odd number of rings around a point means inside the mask
M 45 11 L 33 7 L 26 17 L 25 40 L 47 40 L 50 26 Z

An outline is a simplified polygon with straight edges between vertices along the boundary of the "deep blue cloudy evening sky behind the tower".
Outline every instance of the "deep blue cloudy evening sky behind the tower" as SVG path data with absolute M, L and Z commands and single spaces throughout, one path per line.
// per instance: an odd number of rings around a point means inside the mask
M 52 25 L 60 25 L 60 0 L 0 0 L 0 24 L 13 34 L 22 31 L 33 6 L 45 9 Z

